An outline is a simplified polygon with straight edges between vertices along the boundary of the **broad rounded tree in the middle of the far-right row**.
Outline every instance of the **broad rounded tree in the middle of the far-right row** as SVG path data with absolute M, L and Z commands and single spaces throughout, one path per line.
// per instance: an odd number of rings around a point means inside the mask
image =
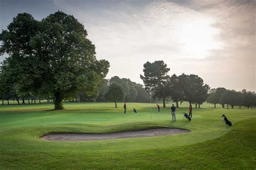
M 226 90 L 223 95 L 220 97 L 220 103 L 221 104 L 227 104 L 231 105 L 231 108 L 233 109 L 235 105 L 239 105 L 240 95 L 235 90 Z

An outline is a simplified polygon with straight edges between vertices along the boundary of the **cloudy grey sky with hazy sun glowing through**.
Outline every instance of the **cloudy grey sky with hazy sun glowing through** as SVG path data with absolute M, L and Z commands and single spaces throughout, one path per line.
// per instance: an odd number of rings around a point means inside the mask
M 164 60 L 170 75 L 256 91 L 255 0 L 0 0 L 0 29 L 17 13 L 41 20 L 57 10 L 85 25 L 97 59 L 110 62 L 107 78 L 143 84 L 143 64 Z

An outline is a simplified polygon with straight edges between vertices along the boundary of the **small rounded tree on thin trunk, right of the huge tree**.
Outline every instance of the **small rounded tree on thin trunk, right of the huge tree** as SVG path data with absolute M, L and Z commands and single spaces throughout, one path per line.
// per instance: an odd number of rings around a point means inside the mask
M 108 101 L 114 101 L 114 104 L 117 108 L 117 102 L 124 100 L 124 90 L 121 86 L 117 85 L 116 83 L 112 83 L 109 86 L 109 89 L 107 90 L 105 94 L 105 98 Z

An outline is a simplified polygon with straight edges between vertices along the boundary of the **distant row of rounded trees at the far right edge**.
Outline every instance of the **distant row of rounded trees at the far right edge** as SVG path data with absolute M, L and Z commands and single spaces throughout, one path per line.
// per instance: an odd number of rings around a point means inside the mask
M 241 106 L 252 108 L 253 105 L 256 106 L 256 95 L 251 91 L 246 91 L 246 89 L 235 91 L 217 88 L 211 90 L 207 102 L 214 104 L 214 108 L 216 108 L 216 104 L 221 104 L 223 108 L 226 104 L 227 109 L 228 105 L 230 105 L 232 109 L 234 106 L 238 106 L 239 108 L 241 108 Z

